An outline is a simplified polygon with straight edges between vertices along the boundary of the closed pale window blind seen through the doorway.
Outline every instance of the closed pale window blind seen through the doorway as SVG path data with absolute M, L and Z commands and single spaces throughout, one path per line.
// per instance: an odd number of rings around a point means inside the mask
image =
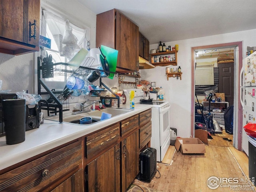
M 214 85 L 214 62 L 197 62 L 195 85 Z

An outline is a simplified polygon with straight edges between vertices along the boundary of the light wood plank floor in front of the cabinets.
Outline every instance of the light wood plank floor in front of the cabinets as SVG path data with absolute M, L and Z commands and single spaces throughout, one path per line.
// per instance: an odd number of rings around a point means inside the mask
M 174 146 L 170 146 L 164 158 L 167 162 L 169 160 L 170 164 L 158 162 L 159 172 L 150 183 L 135 179 L 134 184 L 162 192 L 225 192 L 230 191 L 230 188 L 208 188 L 208 178 L 236 177 L 248 180 L 248 156 L 233 147 L 233 136 L 223 131 L 223 134 L 215 134 L 212 137 L 213 140 L 208 140 L 208 144 L 205 144 L 206 153 L 203 155 L 183 155 L 177 152 Z

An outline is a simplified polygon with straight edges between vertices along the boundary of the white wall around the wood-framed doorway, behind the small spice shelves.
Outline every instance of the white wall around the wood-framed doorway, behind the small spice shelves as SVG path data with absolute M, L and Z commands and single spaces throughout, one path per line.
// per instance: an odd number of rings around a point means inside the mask
M 169 80 L 167 80 L 165 67 L 161 66 L 157 66 L 154 69 L 141 70 L 141 79 L 156 82 L 156 86 L 162 86 L 164 88 L 166 100 L 171 104 L 171 127 L 178 129 L 178 136 L 190 137 L 190 122 L 191 118 L 194 118 L 191 117 L 191 48 L 242 41 L 244 58 L 246 56 L 247 46 L 256 46 L 255 34 L 256 29 L 175 42 L 165 42 L 166 46 L 179 45 L 176 58 L 178 65 L 174 66 L 174 68 L 176 69 L 178 66 L 181 67 L 182 80 L 177 80 L 176 78 L 169 78 Z M 150 45 L 150 49 L 157 47 L 158 44 Z

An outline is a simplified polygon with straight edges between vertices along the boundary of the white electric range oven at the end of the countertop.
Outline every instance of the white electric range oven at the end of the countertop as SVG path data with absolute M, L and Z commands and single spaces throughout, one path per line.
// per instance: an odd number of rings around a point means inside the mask
M 144 92 L 140 89 L 124 90 L 126 100 L 129 100 L 130 91 L 134 90 L 135 104 L 149 104 L 152 105 L 152 137 L 151 146 L 156 149 L 156 160 L 161 162 L 164 159 L 168 147 L 170 146 L 170 103 L 168 101 L 140 102 L 143 98 Z

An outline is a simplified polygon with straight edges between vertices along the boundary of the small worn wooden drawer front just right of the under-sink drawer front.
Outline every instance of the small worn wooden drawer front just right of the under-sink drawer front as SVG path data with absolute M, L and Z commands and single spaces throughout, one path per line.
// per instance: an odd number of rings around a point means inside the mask
M 132 116 L 121 122 L 121 136 L 126 137 L 132 134 L 139 126 L 139 115 Z

